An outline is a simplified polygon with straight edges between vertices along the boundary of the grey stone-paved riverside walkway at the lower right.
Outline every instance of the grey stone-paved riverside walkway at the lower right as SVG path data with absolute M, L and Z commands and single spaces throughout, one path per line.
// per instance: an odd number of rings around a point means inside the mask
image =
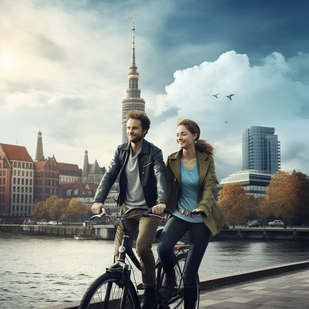
M 309 309 L 309 267 L 201 290 L 199 308 Z

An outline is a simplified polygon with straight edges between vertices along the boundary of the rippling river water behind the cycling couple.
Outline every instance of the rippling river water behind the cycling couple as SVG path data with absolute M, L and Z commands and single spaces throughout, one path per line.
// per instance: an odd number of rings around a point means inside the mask
M 112 264 L 114 242 L 0 233 L 0 249 L 0 308 L 28 309 L 80 300 Z M 156 245 L 153 252 L 156 257 Z M 307 242 L 211 242 L 199 276 L 303 260 L 309 260 Z M 138 271 L 134 274 L 140 283 Z

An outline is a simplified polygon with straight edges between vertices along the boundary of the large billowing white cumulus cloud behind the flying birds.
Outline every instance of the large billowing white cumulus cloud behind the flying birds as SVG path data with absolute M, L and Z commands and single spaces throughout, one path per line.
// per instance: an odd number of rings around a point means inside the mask
M 286 60 L 281 53 L 273 52 L 261 59 L 263 65 L 251 67 L 247 55 L 224 53 L 214 62 L 176 71 L 166 94 L 156 96 L 153 112 L 160 117 L 176 109 L 176 117 L 191 118 L 200 125 L 201 138 L 212 138 L 210 142 L 218 151 L 219 179 L 241 170 L 241 129 L 253 125 L 275 127 L 281 141 L 282 169 L 309 172 L 308 152 L 294 154 L 293 162 L 284 154 L 290 150 L 291 140 L 303 145 L 309 138 L 308 121 L 304 119 L 309 87 L 303 83 L 303 75 L 295 73 L 295 68 L 307 66 L 307 56 L 298 53 Z M 218 99 L 211 96 L 217 93 Z M 235 95 L 232 101 L 225 97 L 230 94 Z M 163 146 L 170 153 L 177 151 L 173 141 L 176 117 L 163 124 Z M 227 119 L 231 119 L 228 124 L 222 122 Z

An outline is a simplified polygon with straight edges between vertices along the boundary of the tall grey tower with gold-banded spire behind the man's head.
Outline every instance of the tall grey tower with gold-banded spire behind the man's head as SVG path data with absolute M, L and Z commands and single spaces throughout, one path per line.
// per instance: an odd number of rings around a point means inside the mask
M 122 100 L 122 143 L 128 141 L 126 130 L 125 116 L 132 109 L 137 109 L 145 112 L 145 100 L 141 98 L 141 89 L 138 88 L 139 73 L 137 71 L 137 65 L 135 63 L 135 47 L 134 47 L 134 13 L 133 13 L 133 41 L 132 41 L 132 58 L 131 65 L 129 66 L 128 80 L 129 88 L 126 90 L 126 98 Z

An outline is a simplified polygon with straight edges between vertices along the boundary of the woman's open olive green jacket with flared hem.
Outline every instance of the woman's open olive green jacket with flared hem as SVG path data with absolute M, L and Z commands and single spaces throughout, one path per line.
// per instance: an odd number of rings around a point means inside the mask
M 197 208 L 203 210 L 203 220 L 210 229 L 212 235 L 216 235 L 222 230 L 228 230 L 229 225 L 221 208 L 214 200 L 214 191 L 216 190 L 218 180 L 214 171 L 214 158 L 205 152 L 197 151 L 197 167 L 199 172 L 199 186 L 197 196 Z M 181 167 L 180 156 L 182 150 L 175 152 L 167 157 L 166 173 L 168 180 L 168 203 L 167 208 L 171 213 L 177 206 L 177 197 L 180 192 Z M 168 218 L 171 215 L 168 216 Z

